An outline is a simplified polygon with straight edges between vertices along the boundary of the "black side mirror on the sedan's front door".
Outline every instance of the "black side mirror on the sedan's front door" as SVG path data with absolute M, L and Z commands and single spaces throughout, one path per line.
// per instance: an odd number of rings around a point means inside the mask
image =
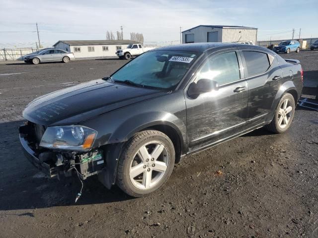
M 212 90 L 218 90 L 219 85 L 216 81 L 211 79 L 202 78 L 196 83 L 193 82 L 189 85 L 187 94 L 190 97 L 197 97 L 201 93 L 209 93 Z

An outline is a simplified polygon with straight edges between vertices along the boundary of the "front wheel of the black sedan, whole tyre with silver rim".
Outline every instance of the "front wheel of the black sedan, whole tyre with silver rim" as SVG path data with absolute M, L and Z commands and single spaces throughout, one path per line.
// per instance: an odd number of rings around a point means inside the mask
M 123 148 L 116 184 L 130 196 L 147 195 L 167 181 L 174 160 L 173 143 L 167 135 L 158 130 L 138 132 Z

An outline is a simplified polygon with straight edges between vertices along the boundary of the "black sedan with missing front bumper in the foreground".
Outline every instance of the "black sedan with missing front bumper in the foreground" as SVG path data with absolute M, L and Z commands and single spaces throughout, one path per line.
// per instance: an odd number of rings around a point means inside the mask
M 96 176 L 138 197 L 159 189 L 187 155 L 261 126 L 285 132 L 302 87 L 299 61 L 262 47 L 163 47 L 35 99 L 20 141 L 49 177 Z

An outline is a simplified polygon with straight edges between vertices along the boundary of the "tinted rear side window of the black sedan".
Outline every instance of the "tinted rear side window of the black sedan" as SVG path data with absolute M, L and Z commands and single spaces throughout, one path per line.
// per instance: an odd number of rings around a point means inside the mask
M 247 67 L 247 77 L 264 73 L 270 66 L 266 53 L 243 51 L 243 56 Z

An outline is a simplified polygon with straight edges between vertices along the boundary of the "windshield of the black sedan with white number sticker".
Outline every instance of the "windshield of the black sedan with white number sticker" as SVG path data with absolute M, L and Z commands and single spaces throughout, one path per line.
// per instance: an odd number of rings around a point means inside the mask
M 114 81 L 159 89 L 174 89 L 197 58 L 191 52 L 149 51 L 130 61 L 113 75 Z

